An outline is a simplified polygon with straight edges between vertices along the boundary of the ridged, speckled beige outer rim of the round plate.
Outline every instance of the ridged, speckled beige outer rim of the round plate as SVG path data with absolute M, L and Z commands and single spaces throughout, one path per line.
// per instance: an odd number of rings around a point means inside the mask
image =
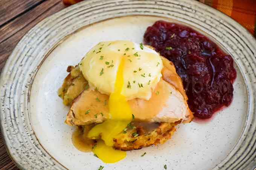
M 87 0 L 57 12 L 32 28 L 15 47 L 0 77 L 1 130 L 17 166 L 65 169 L 43 149 L 30 126 L 30 89 L 47 54 L 65 36 L 81 27 L 127 15 L 167 17 L 192 25 L 215 37 L 232 54 L 247 83 L 247 120 L 235 147 L 214 169 L 255 168 L 256 40 L 228 16 L 191 0 Z

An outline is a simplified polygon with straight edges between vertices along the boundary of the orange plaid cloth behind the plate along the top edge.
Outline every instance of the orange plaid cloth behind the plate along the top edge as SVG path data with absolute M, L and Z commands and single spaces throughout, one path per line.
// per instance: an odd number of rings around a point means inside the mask
M 72 5 L 82 0 L 63 0 Z M 256 37 L 256 0 L 199 0 L 236 20 Z

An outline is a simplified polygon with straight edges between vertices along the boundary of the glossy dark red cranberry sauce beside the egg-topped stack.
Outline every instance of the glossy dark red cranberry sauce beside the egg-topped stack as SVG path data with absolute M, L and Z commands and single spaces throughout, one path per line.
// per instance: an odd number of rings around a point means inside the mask
M 172 61 L 195 117 L 209 118 L 233 98 L 233 59 L 214 42 L 187 26 L 157 21 L 148 27 L 145 44 Z

